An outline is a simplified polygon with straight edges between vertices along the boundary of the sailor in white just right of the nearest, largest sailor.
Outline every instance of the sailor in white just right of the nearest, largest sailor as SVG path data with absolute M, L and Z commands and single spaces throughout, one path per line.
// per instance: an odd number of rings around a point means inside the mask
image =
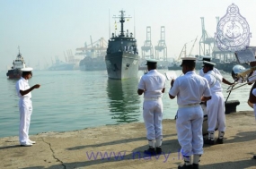
M 208 139 L 204 143 L 215 144 L 215 129 L 218 123 L 218 139 L 216 139 L 216 143 L 222 144 L 225 134 L 225 100 L 221 87 L 223 77 L 213 71 L 216 63 L 207 61 L 203 63 L 204 78 L 207 79 L 212 94 L 212 98 L 207 101 Z

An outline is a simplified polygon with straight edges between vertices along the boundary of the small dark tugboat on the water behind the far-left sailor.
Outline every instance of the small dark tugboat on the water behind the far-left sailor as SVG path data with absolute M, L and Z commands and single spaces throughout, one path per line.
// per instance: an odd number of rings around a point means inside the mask
M 20 79 L 22 76 L 22 68 L 25 68 L 25 61 L 22 57 L 22 54 L 20 53 L 20 47 L 19 47 L 19 54 L 17 55 L 16 59 L 13 60 L 13 66 L 12 69 L 8 70 L 6 73 L 6 76 L 9 77 L 9 79 Z

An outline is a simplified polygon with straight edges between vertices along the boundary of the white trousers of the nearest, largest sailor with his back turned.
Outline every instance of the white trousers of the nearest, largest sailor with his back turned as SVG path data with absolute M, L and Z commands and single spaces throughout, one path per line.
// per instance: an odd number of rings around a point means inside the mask
M 201 106 L 182 107 L 178 109 L 176 130 L 183 156 L 203 154 L 204 114 Z

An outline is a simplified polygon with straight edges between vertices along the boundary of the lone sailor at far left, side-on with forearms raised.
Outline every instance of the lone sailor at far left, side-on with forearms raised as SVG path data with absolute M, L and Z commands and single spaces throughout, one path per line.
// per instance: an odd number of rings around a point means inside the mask
M 29 85 L 29 79 L 32 77 L 32 68 L 22 68 L 22 77 L 16 82 L 16 92 L 19 100 L 20 110 L 20 129 L 19 129 L 19 140 L 21 146 L 29 147 L 35 144 L 29 138 L 29 130 L 31 123 L 32 114 L 32 102 L 31 102 L 31 91 L 33 89 L 39 89 L 40 84 L 36 84 L 33 87 Z

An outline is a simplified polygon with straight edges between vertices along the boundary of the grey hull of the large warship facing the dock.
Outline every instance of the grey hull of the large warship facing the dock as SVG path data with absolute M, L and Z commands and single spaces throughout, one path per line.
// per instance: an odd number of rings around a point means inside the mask
M 138 55 L 116 52 L 106 55 L 105 62 L 109 79 L 125 80 L 137 78 Z

